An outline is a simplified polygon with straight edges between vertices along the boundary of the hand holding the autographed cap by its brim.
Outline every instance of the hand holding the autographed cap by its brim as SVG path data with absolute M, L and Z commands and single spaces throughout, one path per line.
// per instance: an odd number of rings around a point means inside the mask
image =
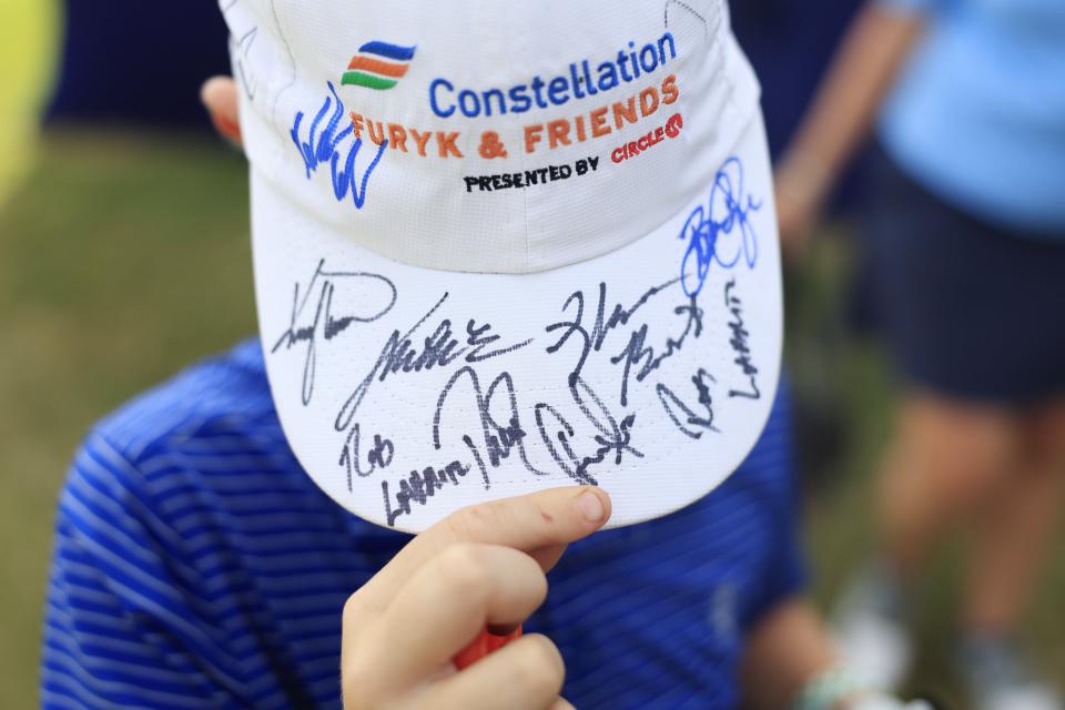
M 566 545 L 609 517 L 605 491 L 557 488 L 465 508 L 416 537 L 344 608 L 344 707 L 569 708 L 561 656 L 544 636 L 458 672 L 452 658 L 486 625 L 521 623 Z

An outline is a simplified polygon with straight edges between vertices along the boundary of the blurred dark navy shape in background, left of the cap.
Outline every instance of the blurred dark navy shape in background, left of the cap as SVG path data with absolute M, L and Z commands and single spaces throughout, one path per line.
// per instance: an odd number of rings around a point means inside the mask
M 64 0 L 62 57 L 45 122 L 210 128 L 200 84 L 230 73 L 213 0 Z

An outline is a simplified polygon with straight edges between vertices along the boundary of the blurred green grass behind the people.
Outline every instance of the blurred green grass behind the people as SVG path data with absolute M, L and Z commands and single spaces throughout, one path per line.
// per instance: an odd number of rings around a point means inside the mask
M 0 0 L 0 708 L 37 704 L 57 491 L 93 420 L 254 332 L 243 161 L 220 141 L 65 131 L 38 136 L 54 16 Z M 792 288 L 797 385 L 835 392 L 843 459 L 809 508 L 814 594 L 838 590 L 871 538 L 871 471 L 891 387 L 876 352 L 832 327 L 849 253 L 828 239 Z M 828 315 L 826 315 L 828 314 Z M 828 325 L 826 325 L 828 323 Z M 1065 542 L 1065 539 L 1062 540 Z M 1025 636 L 1065 684 L 1065 544 Z M 923 580 L 913 688 L 964 707 L 946 658 L 958 556 Z

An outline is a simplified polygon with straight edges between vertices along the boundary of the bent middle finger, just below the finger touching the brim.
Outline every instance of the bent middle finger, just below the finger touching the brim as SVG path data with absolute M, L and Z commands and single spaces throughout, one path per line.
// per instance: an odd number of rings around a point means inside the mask
M 545 597 L 547 578 L 525 552 L 455 544 L 404 586 L 375 625 L 372 657 L 364 660 L 376 663 L 386 690 L 409 687 L 449 662 L 486 625 L 520 623 Z

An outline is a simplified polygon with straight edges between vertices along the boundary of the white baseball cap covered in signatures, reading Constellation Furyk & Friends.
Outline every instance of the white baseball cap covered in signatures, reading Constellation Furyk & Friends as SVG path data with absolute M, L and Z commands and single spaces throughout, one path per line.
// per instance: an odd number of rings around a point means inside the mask
M 337 503 L 419 531 L 740 465 L 780 374 L 759 87 L 723 0 L 222 0 L 266 369 Z

